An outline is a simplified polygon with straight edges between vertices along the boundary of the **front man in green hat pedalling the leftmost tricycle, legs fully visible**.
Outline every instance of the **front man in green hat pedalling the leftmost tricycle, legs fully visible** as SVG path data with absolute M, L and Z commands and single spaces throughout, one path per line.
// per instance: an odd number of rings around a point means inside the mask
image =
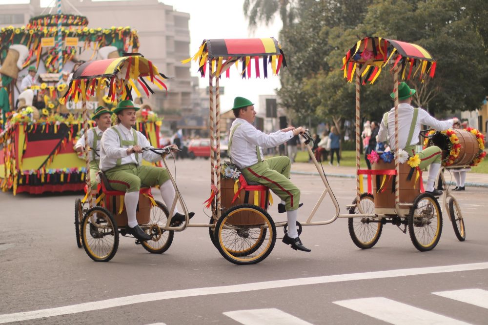
M 160 185 L 161 196 L 168 207 L 173 205 L 175 189 L 166 169 L 142 165 L 142 159 L 157 162 L 163 157 L 150 150 L 142 151 L 142 147 L 153 148 L 153 146 L 141 132 L 132 128 L 136 124 L 136 111 L 138 110 L 139 107 L 134 106 L 134 103 L 128 100 L 117 105 L 114 110 L 114 113 L 117 114 L 117 125 L 108 128 L 102 136 L 100 169 L 105 173 L 113 189 L 125 192 L 126 231 L 137 239 L 146 241 L 151 237 L 142 231 L 136 219 L 141 184 Z M 172 147 L 178 149 L 174 145 Z M 190 212 L 188 215 L 189 218 L 192 218 L 194 213 Z M 181 214 L 176 206 L 171 217 L 172 225 L 185 221 L 185 215 Z

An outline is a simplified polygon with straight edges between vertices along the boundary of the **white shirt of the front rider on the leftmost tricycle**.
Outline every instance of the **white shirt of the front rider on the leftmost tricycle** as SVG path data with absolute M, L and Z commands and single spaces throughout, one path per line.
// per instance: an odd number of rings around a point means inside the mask
M 120 132 L 123 140 L 134 141 L 132 128 L 128 129 L 122 124 L 117 124 L 115 127 Z M 154 148 L 141 132 L 136 131 L 136 135 L 137 144 L 140 147 Z M 119 135 L 110 127 L 106 129 L 102 135 L 102 146 L 100 148 L 100 169 L 108 170 L 115 167 L 118 159 L 122 159 L 122 165 L 128 163 L 141 165 L 142 159 L 148 162 L 157 162 L 162 159 L 160 154 L 148 150 L 140 153 L 138 155 L 139 160 L 137 161 L 135 154 L 127 155 L 127 149 L 132 147 L 132 145 L 124 145 L 121 147 Z

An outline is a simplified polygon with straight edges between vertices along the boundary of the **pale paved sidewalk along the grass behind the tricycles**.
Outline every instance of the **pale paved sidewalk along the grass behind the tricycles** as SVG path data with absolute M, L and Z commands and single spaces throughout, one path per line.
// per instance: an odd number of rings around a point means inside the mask
M 329 177 L 344 177 L 344 178 L 355 178 L 356 168 L 345 167 L 345 166 L 330 166 L 328 164 L 323 165 L 325 175 Z M 291 165 L 292 174 L 303 174 L 303 175 L 319 175 L 317 173 L 317 168 L 313 163 L 293 163 Z M 454 177 L 450 175 L 449 170 L 444 172 L 444 178 L 447 184 L 455 185 Z M 426 179 L 424 179 L 424 183 Z M 487 187 L 488 188 L 488 174 L 477 174 L 468 172 L 466 175 L 465 186 L 474 187 Z

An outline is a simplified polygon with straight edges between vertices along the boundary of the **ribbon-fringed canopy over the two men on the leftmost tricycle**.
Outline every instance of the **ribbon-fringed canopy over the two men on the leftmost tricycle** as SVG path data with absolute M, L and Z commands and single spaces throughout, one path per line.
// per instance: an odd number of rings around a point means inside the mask
M 118 99 L 132 99 L 131 91 L 141 96 L 135 81 L 139 83 L 147 96 L 154 91 L 148 82 L 160 89 L 167 89 L 163 80 L 167 79 L 158 68 L 149 60 L 140 55 L 131 55 L 115 59 L 89 61 L 80 65 L 73 74 L 68 91 L 60 100 L 67 102 L 80 99 L 86 100 L 90 96 L 98 96 L 101 91 L 108 88 L 108 99 L 115 102 Z

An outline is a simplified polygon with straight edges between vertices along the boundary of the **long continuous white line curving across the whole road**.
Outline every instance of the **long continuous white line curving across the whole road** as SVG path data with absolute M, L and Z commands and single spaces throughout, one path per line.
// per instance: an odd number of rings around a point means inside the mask
M 85 311 L 100 310 L 100 309 L 120 307 L 125 305 L 132 305 L 132 304 L 140 304 L 140 303 L 166 300 L 166 299 L 197 297 L 197 296 L 215 295 L 215 294 L 223 294 L 223 293 L 248 292 L 248 291 L 255 291 L 255 290 L 284 288 L 284 287 L 297 286 L 297 285 L 325 284 L 325 283 L 336 283 L 336 282 L 357 281 L 357 280 L 396 278 L 396 277 L 405 277 L 405 276 L 422 275 L 422 274 L 438 274 L 438 273 L 473 271 L 473 270 L 484 270 L 484 269 L 488 269 L 488 262 L 419 267 L 419 268 L 404 268 L 404 269 L 397 269 L 397 270 L 374 271 L 374 272 L 365 272 L 365 273 L 336 274 L 336 275 L 326 275 L 326 276 L 311 277 L 311 278 L 296 278 L 296 279 L 286 279 L 286 280 L 255 282 L 255 283 L 247 283 L 247 284 L 234 284 L 234 285 L 144 293 L 140 295 L 113 298 L 113 299 L 107 299 L 107 300 L 101 300 L 101 301 L 95 301 L 89 303 L 82 303 L 77 305 L 68 305 L 68 306 L 61 306 L 55 308 L 24 311 L 24 312 L 12 313 L 12 314 L 2 314 L 0 315 L 0 324 L 8 323 L 8 322 L 21 322 L 30 319 L 37 319 L 37 318 L 44 318 L 44 317 L 69 315 L 69 314 L 81 313 Z

